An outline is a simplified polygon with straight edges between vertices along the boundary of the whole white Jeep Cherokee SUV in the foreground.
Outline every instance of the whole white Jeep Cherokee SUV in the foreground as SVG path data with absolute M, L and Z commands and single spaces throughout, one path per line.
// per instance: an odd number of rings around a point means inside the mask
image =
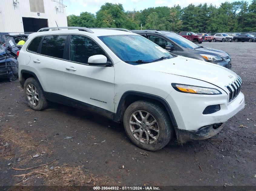
M 227 68 L 173 57 L 128 30 L 55 29 L 31 34 L 18 55 L 34 110 L 53 101 L 97 113 L 156 151 L 175 136 L 182 143 L 210 138 L 244 108 L 241 78 Z

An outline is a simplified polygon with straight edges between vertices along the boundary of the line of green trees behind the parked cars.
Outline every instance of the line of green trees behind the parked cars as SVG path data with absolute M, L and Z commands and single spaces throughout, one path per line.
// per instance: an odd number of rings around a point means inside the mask
M 181 8 L 150 7 L 141 11 L 125 11 L 122 4 L 105 3 L 96 14 L 82 12 L 69 15 L 68 26 L 158 29 L 195 33 L 256 31 L 256 0 L 224 2 L 219 7 L 189 4 Z

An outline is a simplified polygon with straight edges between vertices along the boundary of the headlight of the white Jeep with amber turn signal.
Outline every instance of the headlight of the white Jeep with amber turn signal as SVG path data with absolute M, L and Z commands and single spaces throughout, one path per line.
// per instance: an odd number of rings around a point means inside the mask
M 189 93 L 189 94 L 221 94 L 220 91 L 214 88 L 205 88 L 200 86 L 191 86 L 185 84 L 171 84 L 172 87 L 179 92 Z

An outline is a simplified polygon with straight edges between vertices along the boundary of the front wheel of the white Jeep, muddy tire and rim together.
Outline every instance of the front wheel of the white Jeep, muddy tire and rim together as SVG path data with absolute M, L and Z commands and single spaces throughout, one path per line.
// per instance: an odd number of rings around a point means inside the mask
M 141 115 L 144 117 L 144 121 Z M 135 101 L 125 110 L 123 119 L 125 132 L 129 139 L 142 149 L 157 151 L 167 145 L 171 140 L 173 128 L 168 115 L 155 103 L 145 100 Z M 156 123 L 149 126 L 153 121 L 156 121 Z M 158 131 L 153 130 L 153 128 Z

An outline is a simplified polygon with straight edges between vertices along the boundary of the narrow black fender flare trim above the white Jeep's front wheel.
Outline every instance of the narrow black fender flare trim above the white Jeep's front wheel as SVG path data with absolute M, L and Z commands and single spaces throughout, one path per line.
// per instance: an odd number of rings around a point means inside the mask
M 168 112 L 168 115 L 171 119 L 171 123 L 174 127 L 177 127 L 177 123 L 176 123 L 176 120 L 175 120 L 175 117 L 172 113 L 172 110 L 171 110 L 171 107 L 169 106 L 169 104 L 167 103 L 167 101 L 162 98 L 162 97 L 159 97 L 157 95 L 153 95 L 153 94 L 148 94 L 148 93 L 144 93 L 144 92 L 139 92 L 139 91 L 126 91 L 120 98 L 120 101 L 118 103 L 118 107 L 117 107 L 117 112 L 114 114 L 114 120 L 115 121 L 120 121 L 120 111 L 121 111 L 121 106 L 122 104 L 124 103 L 125 101 L 125 98 L 128 96 L 128 95 L 135 95 L 135 96 L 141 96 L 141 97 L 145 97 L 145 98 L 149 98 L 149 99 L 152 99 L 152 100 L 157 100 L 159 102 L 161 102 L 165 109 L 167 110 Z

